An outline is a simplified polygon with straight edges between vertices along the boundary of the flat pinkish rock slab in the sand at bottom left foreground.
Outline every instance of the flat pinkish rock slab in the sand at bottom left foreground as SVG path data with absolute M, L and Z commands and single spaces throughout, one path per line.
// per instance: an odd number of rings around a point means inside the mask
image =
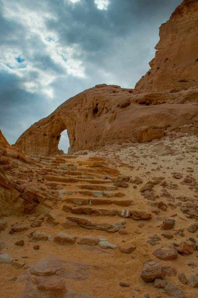
M 88 293 L 71 292 L 66 285 L 68 279 L 75 281 L 86 280 L 91 274 L 90 266 L 85 263 L 65 261 L 56 256 L 50 256 L 30 265 L 30 269 L 24 271 L 20 281 L 26 281 L 25 288 L 21 292 L 21 298 L 69 298 L 91 297 Z

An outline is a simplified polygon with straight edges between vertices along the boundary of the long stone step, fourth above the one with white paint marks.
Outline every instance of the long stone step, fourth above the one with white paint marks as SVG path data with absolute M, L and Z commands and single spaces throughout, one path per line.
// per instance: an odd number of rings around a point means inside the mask
M 63 183 L 76 183 L 76 182 L 90 182 L 93 184 L 107 184 L 111 183 L 111 181 L 108 180 L 97 180 L 97 179 L 83 179 L 83 178 L 73 178 L 73 177 L 62 177 L 62 176 L 47 176 L 44 175 L 43 178 L 47 181 L 57 181 L 57 182 L 63 182 Z M 113 186 L 112 190 L 117 189 L 115 186 Z

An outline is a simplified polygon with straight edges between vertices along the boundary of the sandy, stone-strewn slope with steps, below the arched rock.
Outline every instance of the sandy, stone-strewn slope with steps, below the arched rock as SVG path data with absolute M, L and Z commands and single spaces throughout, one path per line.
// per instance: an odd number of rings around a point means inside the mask
M 6 149 L 20 196 L 12 213 L 0 196 L 1 297 L 196 298 L 197 150 L 179 131 L 86 155 Z

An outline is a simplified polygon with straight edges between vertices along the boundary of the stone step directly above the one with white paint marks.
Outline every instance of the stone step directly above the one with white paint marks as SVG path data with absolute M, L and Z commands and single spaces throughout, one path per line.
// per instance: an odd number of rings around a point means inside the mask
M 69 204 L 75 204 L 78 206 L 82 205 L 117 205 L 117 206 L 123 206 L 127 207 L 129 205 L 132 205 L 132 200 L 109 200 L 109 199 L 101 199 L 101 198 L 63 198 L 63 202 L 69 203 Z

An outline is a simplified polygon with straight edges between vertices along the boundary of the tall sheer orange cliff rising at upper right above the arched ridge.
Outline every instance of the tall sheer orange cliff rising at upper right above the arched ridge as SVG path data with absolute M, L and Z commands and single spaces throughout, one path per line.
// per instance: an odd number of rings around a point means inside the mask
M 178 91 L 198 85 L 197 14 L 198 1 L 184 0 L 161 25 L 151 69 L 135 88 Z

